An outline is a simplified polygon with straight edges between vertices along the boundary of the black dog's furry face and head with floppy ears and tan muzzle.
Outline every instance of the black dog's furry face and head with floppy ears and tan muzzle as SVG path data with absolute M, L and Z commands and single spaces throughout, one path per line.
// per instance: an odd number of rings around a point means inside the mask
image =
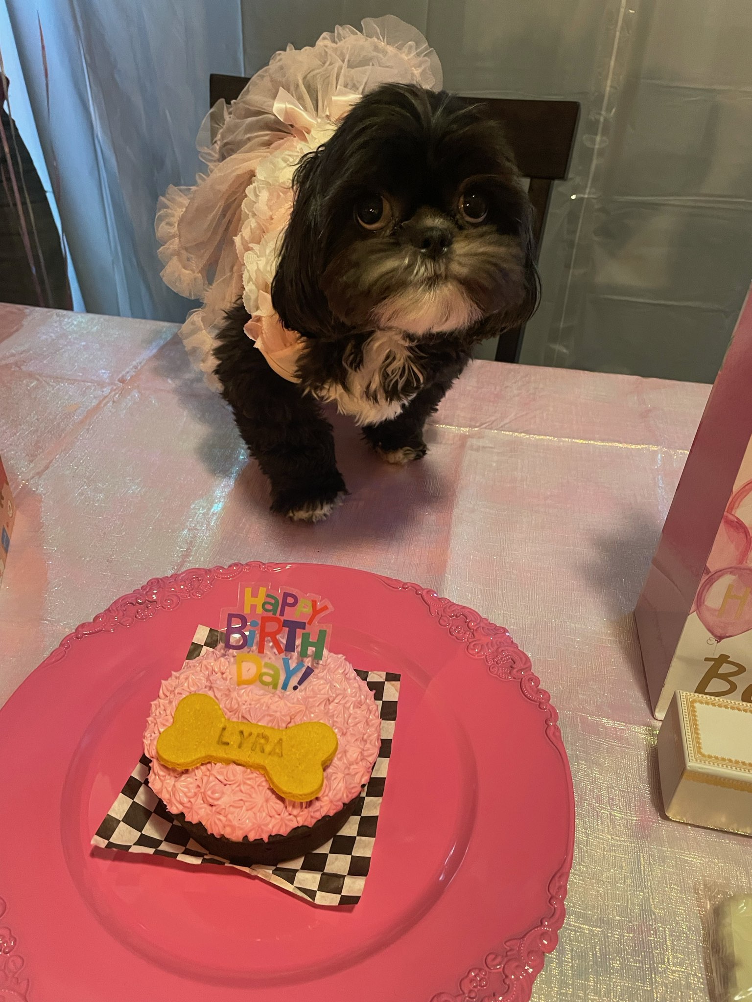
M 286 327 L 471 342 L 534 310 L 529 201 L 498 126 L 463 101 L 381 87 L 302 161 L 295 185 L 272 288 Z

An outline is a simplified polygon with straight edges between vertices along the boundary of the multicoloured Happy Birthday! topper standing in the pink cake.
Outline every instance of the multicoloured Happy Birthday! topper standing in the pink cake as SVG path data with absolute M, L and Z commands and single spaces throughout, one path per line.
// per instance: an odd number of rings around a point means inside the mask
M 331 602 L 318 595 L 241 584 L 238 605 L 222 610 L 220 624 L 225 646 L 236 651 L 238 684 L 258 682 L 283 692 L 300 688 L 315 670 L 304 658 L 321 661 L 328 649 L 332 627 L 322 617 L 333 611 Z M 268 653 L 283 655 L 282 672 L 274 661 L 264 660 Z

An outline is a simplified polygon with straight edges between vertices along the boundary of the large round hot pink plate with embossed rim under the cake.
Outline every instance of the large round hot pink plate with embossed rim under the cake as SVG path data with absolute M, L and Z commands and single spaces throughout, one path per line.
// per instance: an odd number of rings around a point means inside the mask
M 89 844 L 141 754 L 159 682 L 241 580 L 327 597 L 332 649 L 401 673 L 355 907 Z M 418 585 L 261 563 L 148 581 L 65 637 L 0 711 L 0 999 L 527 1000 L 572 864 L 555 721 L 505 629 Z

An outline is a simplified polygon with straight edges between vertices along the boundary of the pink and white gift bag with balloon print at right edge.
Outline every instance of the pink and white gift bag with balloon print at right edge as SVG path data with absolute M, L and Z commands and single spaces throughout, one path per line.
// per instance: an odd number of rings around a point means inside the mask
M 677 689 L 752 702 L 752 294 L 635 610 L 653 712 Z

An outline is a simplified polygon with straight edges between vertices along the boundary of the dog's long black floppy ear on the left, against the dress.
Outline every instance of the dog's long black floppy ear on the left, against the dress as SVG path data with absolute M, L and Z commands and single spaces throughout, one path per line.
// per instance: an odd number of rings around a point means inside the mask
M 324 148 L 308 153 L 293 178 L 295 199 L 280 247 L 272 305 L 289 331 L 325 335 L 331 312 L 321 291 L 324 235 Z

